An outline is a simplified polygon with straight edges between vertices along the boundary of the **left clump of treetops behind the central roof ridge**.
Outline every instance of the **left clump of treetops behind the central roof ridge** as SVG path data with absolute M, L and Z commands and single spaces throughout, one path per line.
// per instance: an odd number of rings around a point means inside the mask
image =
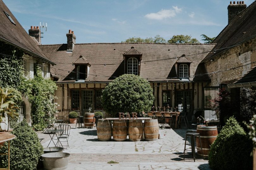
M 166 43 L 166 40 L 163 37 L 160 37 L 160 35 L 156 35 L 154 38 L 140 38 L 140 37 L 131 37 L 126 39 L 122 43 Z

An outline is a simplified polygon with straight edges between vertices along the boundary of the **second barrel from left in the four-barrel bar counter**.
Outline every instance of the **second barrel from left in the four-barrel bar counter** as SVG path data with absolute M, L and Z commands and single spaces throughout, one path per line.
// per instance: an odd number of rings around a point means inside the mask
M 127 120 L 113 120 L 114 141 L 125 141 L 127 138 Z

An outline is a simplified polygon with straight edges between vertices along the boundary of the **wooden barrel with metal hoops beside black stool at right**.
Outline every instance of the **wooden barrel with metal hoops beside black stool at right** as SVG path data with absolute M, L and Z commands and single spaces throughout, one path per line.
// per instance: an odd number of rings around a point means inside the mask
M 198 149 L 197 153 L 198 155 L 201 155 L 201 156 L 203 156 L 203 154 L 204 156 L 208 156 L 208 153 L 210 151 L 210 145 L 215 141 L 218 135 L 217 126 L 198 125 L 197 133 L 200 134 L 200 139 L 201 139 L 202 148 L 203 148 L 203 150 L 199 150 L 201 149 L 201 145 L 199 142 L 199 138 L 197 137 L 196 138 L 197 149 Z

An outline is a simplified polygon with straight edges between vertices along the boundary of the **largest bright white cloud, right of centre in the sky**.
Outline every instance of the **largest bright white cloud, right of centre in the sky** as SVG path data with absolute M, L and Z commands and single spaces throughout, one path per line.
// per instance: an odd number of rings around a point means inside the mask
M 165 18 L 175 17 L 176 14 L 180 13 L 181 11 L 182 11 L 181 8 L 178 8 L 177 6 L 175 7 L 173 6 L 173 9 L 162 9 L 157 13 L 146 14 L 145 17 L 151 20 L 163 20 Z

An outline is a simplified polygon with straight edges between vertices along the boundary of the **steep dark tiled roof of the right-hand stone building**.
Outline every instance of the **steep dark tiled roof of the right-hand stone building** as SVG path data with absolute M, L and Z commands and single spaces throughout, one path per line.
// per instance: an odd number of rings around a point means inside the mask
M 239 13 L 215 38 L 216 46 L 202 62 L 212 59 L 214 56 L 234 46 L 256 37 L 256 1 Z M 224 49 L 222 49 L 224 48 Z

